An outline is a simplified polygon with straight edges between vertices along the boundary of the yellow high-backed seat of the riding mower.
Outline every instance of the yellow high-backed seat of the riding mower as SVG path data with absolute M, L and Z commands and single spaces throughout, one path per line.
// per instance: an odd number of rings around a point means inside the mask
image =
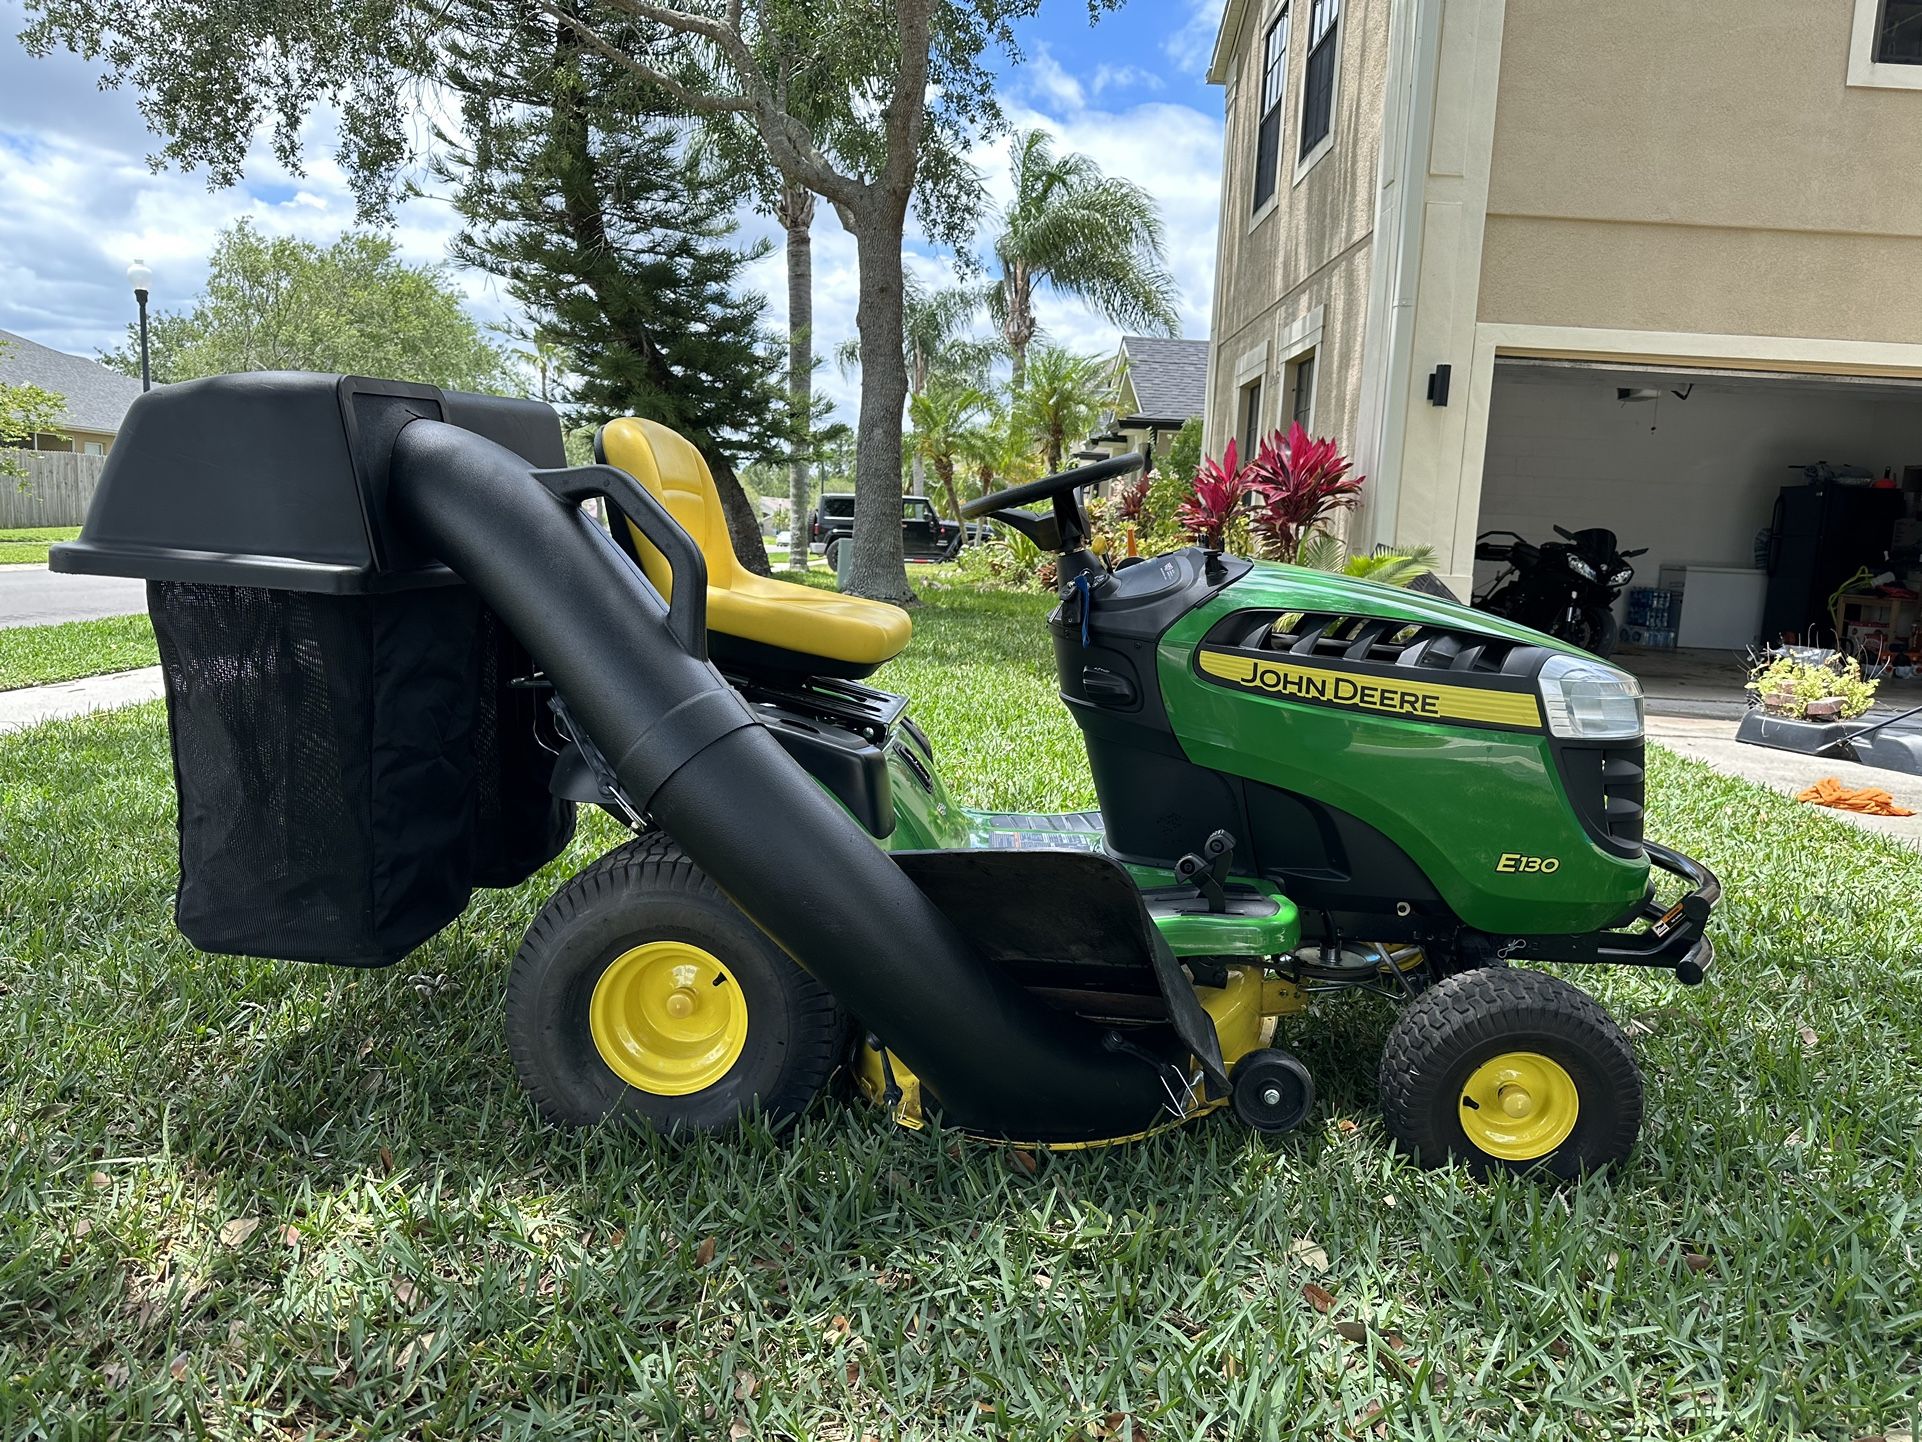
M 600 460 L 653 492 L 707 558 L 707 644 L 717 661 L 805 675 L 865 677 L 901 654 L 913 634 L 907 611 L 884 602 L 755 575 L 734 558 L 707 461 L 665 425 L 632 415 L 609 421 L 594 442 Z M 619 517 L 621 538 L 661 596 L 673 575 L 640 529 Z M 805 546 L 800 517 L 794 544 Z

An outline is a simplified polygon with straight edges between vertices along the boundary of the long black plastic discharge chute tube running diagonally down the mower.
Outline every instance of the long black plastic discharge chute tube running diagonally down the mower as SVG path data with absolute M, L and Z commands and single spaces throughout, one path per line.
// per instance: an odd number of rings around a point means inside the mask
M 1165 1115 L 1165 1073 L 976 956 L 525 460 L 411 421 L 388 506 L 527 646 L 634 802 L 919 1073 L 949 1123 L 1065 1142 Z

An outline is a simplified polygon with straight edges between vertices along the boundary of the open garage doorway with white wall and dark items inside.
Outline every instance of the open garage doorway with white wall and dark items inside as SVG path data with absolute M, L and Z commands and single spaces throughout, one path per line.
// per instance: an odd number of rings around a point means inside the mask
M 1495 363 L 1476 531 L 1543 542 L 1557 525 L 1605 527 L 1622 550 L 1645 546 L 1630 584 L 1674 596 L 1632 617 L 1624 594 L 1614 613 L 1616 654 L 1651 696 L 1739 706 L 1751 646 L 1836 642 L 1830 598 L 1851 577 L 1866 573 L 1864 592 L 1884 575 L 1884 592 L 1922 590 L 1918 510 L 1922 381 Z M 1478 596 L 1497 569 L 1476 563 Z M 1849 596 L 1845 644 L 1916 654 L 1912 596 Z

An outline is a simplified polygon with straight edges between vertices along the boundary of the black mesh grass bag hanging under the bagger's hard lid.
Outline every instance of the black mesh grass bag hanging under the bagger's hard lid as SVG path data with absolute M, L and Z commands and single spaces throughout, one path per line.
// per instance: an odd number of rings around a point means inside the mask
M 388 965 L 573 834 L 465 586 L 334 596 L 154 581 L 179 792 L 177 921 L 204 952 Z

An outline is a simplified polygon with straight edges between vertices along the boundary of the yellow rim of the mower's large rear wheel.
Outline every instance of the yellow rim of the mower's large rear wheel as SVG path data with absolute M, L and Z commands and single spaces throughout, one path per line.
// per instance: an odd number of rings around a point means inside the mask
M 740 1059 L 748 998 L 711 952 L 692 942 L 642 942 L 594 982 L 588 1029 L 602 1061 L 628 1086 L 688 1096 Z

